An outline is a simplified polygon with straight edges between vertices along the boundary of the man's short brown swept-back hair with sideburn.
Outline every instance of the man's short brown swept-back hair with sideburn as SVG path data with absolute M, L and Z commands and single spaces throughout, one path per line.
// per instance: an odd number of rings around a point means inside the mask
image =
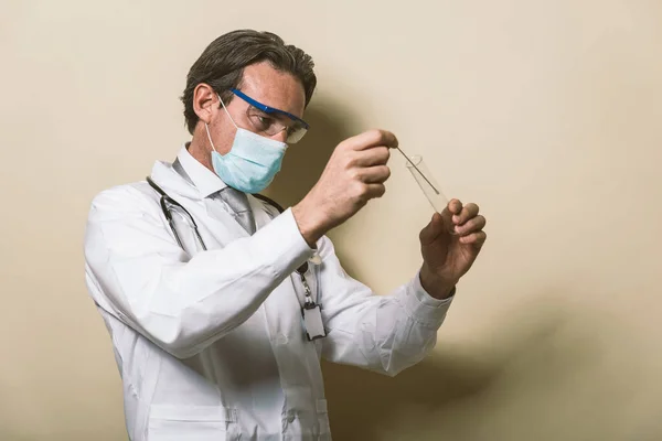
M 186 88 L 181 97 L 189 132 L 193 133 L 199 120 L 193 109 L 193 92 L 200 83 L 209 84 L 223 101 L 229 103 L 233 97 L 229 89 L 236 88 L 242 82 L 244 67 L 263 61 L 298 78 L 303 85 L 308 106 L 317 85 L 312 57 L 291 44 L 286 45 L 274 33 L 233 31 L 214 40 L 189 71 Z

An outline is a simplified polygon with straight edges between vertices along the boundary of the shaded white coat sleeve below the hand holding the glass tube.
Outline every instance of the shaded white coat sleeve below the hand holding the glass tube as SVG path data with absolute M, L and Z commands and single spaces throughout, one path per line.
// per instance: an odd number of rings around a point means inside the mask
M 325 359 L 394 376 L 433 349 L 452 298 L 431 298 L 418 273 L 388 295 L 375 294 L 346 275 L 328 238 L 320 249 Z

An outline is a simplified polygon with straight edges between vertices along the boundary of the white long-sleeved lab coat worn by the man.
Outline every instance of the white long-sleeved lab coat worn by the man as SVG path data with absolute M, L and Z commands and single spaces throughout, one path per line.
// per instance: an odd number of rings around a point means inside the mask
M 192 176 L 209 172 L 185 148 L 180 159 Z M 146 182 L 92 203 L 86 282 L 111 336 L 131 440 L 330 440 L 321 356 L 395 375 L 434 347 L 450 300 L 430 298 L 418 275 L 374 294 L 327 237 L 307 279 L 329 335 L 308 341 L 291 275 L 314 250 L 291 209 L 249 196 L 258 230 L 248 236 L 170 163 L 151 176 L 191 213 L 209 250 L 183 222 L 180 248 Z

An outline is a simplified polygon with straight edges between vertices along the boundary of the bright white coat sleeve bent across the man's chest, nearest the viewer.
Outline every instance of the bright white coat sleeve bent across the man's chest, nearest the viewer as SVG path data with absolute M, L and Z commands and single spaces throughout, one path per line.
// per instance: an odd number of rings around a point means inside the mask
M 95 197 L 84 248 L 99 308 L 180 358 L 242 324 L 313 252 L 288 209 L 252 237 L 190 258 L 134 186 Z

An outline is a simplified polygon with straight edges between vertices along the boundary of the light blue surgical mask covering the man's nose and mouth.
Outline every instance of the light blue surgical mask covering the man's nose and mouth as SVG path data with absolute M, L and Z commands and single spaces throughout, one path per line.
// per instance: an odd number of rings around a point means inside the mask
M 221 99 L 220 96 L 218 99 Z M 259 193 L 274 181 L 274 176 L 280 171 L 287 144 L 237 127 L 223 100 L 221 100 L 221 105 L 237 131 L 232 149 L 222 155 L 214 147 L 209 126 L 204 125 L 210 143 L 214 149 L 212 151 L 214 171 L 223 182 L 233 189 L 244 193 Z

